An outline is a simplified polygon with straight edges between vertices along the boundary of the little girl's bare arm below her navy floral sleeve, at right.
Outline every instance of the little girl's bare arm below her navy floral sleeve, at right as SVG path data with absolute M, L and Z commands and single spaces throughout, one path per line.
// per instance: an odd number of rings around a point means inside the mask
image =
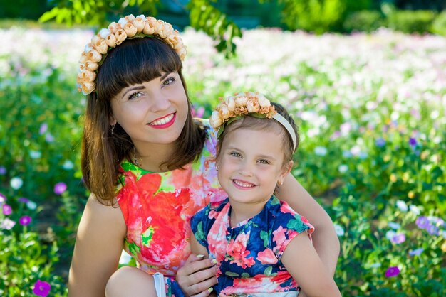
M 281 262 L 306 295 L 341 296 L 333 277 L 328 274 L 305 232 L 291 239 L 282 255 Z

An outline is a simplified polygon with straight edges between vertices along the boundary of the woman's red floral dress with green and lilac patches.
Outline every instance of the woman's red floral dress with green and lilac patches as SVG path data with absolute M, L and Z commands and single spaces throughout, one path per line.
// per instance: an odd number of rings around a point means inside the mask
M 121 163 L 116 198 L 127 226 L 124 249 L 149 274 L 173 278 L 191 253 L 190 217 L 227 196 L 217 180 L 216 141 L 208 134 L 202 155 L 184 170 L 151 173 Z

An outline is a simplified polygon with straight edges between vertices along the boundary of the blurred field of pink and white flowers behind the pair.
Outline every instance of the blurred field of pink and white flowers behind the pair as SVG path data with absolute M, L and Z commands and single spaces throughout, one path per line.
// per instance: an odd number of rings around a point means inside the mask
M 76 67 L 93 32 L 0 34 L 0 296 L 66 296 L 88 196 Z M 335 222 L 343 296 L 446 296 L 446 38 L 258 29 L 225 60 L 183 37 L 197 116 L 244 90 L 294 114 L 293 173 Z

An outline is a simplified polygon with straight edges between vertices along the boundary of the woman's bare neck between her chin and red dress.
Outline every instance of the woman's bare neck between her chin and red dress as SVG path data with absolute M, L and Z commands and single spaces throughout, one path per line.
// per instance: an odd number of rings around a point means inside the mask
M 168 171 L 162 163 L 170 158 L 173 150 L 173 144 L 135 144 L 132 161 L 146 171 Z

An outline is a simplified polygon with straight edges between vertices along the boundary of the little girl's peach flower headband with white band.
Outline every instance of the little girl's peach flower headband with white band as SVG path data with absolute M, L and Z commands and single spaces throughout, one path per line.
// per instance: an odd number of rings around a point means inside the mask
M 276 112 L 274 106 L 271 105 L 269 99 L 259 92 L 241 92 L 234 96 L 220 98 L 222 102 L 217 105 L 217 108 L 212 112 L 212 117 L 209 121 L 212 128 L 218 130 L 217 139 L 222 135 L 224 127 L 237 119 L 242 119 L 244 116 L 259 117 L 275 119 L 284 126 L 286 131 L 293 140 L 293 151 L 296 149 L 296 133 L 293 127 L 281 114 Z

